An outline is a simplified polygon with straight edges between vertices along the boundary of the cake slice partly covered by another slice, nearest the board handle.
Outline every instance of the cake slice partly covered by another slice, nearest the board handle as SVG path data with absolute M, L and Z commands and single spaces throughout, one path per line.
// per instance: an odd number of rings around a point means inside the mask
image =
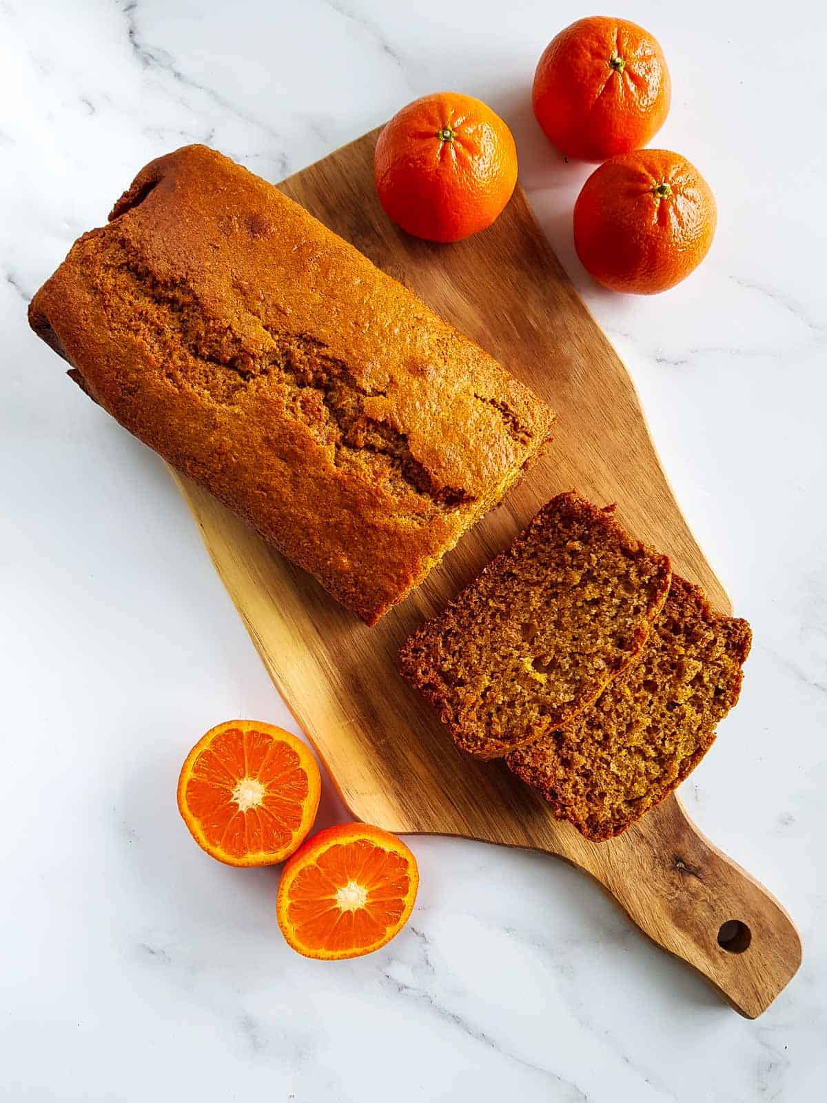
M 752 633 L 675 576 L 641 658 L 559 731 L 508 767 L 587 838 L 624 832 L 700 762 L 738 700 Z

